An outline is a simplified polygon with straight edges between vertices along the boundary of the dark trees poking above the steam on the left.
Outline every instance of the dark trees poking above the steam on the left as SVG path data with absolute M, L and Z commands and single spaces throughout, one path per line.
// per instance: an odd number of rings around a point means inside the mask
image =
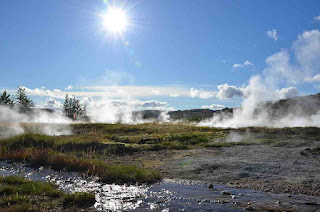
M 27 111 L 35 106 L 34 102 L 26 95 L 26 89 L 20 86 L 15 96 L 11 96 L 7 90 L 4 90 L 0 95 L 0 105 L 18 107 L 22 111 Z M 65 97 L 62 112 L 71 119 L 88 119 L 86 105 L 81 104 L 75 96 L 69 97 L 68 94 Z

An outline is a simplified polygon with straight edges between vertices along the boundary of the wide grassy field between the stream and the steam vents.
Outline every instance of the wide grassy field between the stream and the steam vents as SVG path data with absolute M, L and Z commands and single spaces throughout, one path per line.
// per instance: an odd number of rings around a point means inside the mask
M 34 128 L 25 124 L 25 128 Z M 34 124 L 39 125 L 39 124 Z M 114 164 L 117 158 L 140 152 L 220 148 L 236 145 L 290 146 L 320 140 L 319 128 L 219 129 L 188 124 L 73 124 L 74 135 L 23 134 L 0 140 L 0 159 L 26 161 L 32 166 L 96 175 L 104 182 L 155 182 L 159 173 L 136 165 Z M 231 142 L 236 133 L 244 140 Z M 248 138 L 247 138 L 248 137 Z M 130 163 L 130 161 L 129 161 Z

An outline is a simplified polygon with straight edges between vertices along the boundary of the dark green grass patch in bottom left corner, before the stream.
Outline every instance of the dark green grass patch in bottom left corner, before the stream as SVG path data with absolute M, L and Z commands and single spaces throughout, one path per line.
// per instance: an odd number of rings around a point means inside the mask
M 1 211 L 48 211 L 88 208 L 95 203 L 92 193 L 67 194 L 47 182 L 33 182 L 19 176 L 0 176 Z M 60 208 L 60 209 L 59 209 Z

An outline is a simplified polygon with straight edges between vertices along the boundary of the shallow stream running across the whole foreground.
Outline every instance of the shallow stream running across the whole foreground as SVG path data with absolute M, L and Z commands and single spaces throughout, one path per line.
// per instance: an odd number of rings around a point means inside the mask
M 77 173 L 33 169 L 23 164 L 0 162 L 0 175 L 20 175 L 30 180 L 55 183 L 65 192 L 91 191 L 97 211 L 320 211 L 320 197 L 273 194 L 220 185 L 208 188 L 194 181 L 165 179 L 153 185 L 103 184 Z

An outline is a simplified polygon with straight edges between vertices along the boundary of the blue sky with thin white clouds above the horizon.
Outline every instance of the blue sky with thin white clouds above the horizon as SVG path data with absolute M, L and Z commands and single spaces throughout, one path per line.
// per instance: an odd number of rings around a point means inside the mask
M 219 96 L 219 85 L 241 93 L 251 76 L 264 76 L 266 59 L 282 49 L 292 66 L 302 67 L 293 44 L 320 27 L 317 0 L 109 3 L 128 18 L 121 36 L 103 29 L 99 15 L 108 9 L 103 0 L 3 1 L 0 89 L 25 86 L 37 104 L 62 102 L 70 93 L 155 100 L 175 109 L 234 107 L 242 94 Z M 304 71 L 304 82 L 286 80 L 276 88 L 317 93 L 317 72 Z

